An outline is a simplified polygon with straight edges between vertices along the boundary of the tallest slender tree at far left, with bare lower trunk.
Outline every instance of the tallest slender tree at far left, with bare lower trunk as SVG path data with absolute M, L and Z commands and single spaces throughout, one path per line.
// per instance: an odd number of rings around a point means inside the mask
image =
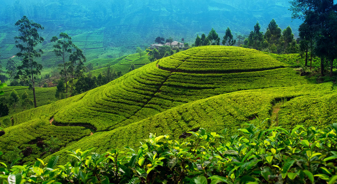
M 19 36 L 14 37 L 16 47 L 19 49 L 18 57 L 22 58 L 22 65 L 18 66 L 16 78 L 29 79 L 32 82 L 32 90 L 34 96 L 34 107 L 36 108 L 35 97 L 35 76 L 41 74 L 42 65 L 34 61 L 41 57 L 42 50 L 35 50 L 37 44 L 43 42 L 43 38 L 39 36 L 38 30 L 44 28 L 37 23 L 29 20 L 26 16 L 15 23 L 19 27 Z

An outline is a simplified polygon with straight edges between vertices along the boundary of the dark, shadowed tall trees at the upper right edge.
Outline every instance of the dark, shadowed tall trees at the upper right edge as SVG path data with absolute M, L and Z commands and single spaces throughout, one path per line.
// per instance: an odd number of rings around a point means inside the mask
M 299 27 L 300 50 L 305 53 L 305 65 L 310 52 L 310 69 L 312 54 L 320 57 L 321 76 L 326 74 L 330 62 L 330 76 L 333 75 L 333 61 L 337 58 L 337 4 L 333 0 L 294 0 L 290 1 L 292 19 L 301 19 Z

